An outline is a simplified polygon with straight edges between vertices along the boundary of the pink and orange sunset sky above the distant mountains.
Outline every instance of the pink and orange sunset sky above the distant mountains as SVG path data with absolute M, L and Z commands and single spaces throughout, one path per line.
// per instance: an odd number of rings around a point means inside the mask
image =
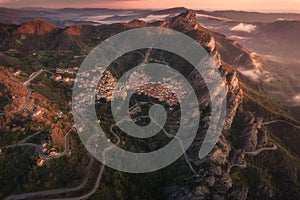
M 300 0 L 0 0 L 0 7 L 171 8 L 300 11 Z

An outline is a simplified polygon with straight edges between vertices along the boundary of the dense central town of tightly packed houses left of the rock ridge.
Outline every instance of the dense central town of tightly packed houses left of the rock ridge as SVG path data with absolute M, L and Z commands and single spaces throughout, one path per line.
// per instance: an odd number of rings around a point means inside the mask
M 79 80 L 81 83 L 78 85 L 79 89 L 86 88 L 87 90 L 92 90 L 91 82 L 99 82 L 96 100 L 106 99 L 107 101 L 111 101 L 113 95 L 125 99 L 128 91 L 132 90 L 137 94 L 145 94 L 149 97 L 157 98 L 172 106 L 178 104 L 178 100 L 188 92 L 183 89 L 181 83 L 171 78 L 163 79 L 164 84 L 161 82 L 151 82 L 151 78 L 142 71 L 134 71 L 126 77 L 127 80 L 124 83 L 118 83 L 118 80 L 108 70 L 102 73 L 100 80 L 96 80 L 98 77 L 92 76 L 92 74 L 89 74 L 90 72 L 82 73 L 84 73 L 81 74 L 82 77 L 85 78 Z M 118 88 L 116 88 L 117 84 Z M 79 103 L 93 103 L 91 99 L 93 99 L 94 93 L 88 93 L 91 94 L 91 96 L 87 95 L 87 93 L 78 94 L 75 99 L 79 100 Z

